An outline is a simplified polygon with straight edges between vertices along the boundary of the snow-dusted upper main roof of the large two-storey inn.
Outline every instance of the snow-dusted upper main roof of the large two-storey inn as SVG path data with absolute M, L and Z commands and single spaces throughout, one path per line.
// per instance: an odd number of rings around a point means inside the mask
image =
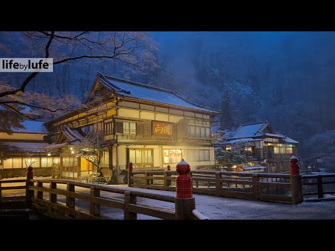
M 98 74 L 98 79 L 107 89 L 110 89 L 121 96 L 161 102 L 163 104 L 187 107 L 205 112 L 218 113 L 218 111 L 214 109 L 207 109 L 205 107 L 201 107 L 200 105 L 196 105 L 195 103 L 182 98 L 174 91 L 170 91 L 168 89 L 131 82 L 102 74 Z

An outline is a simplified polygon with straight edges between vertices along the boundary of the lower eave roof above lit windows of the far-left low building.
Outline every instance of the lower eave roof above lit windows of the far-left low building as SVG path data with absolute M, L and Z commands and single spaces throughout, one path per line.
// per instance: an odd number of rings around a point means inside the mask
M 0 142 L 0 149 L 5 153 L 45 153 L 42 149 L 45 145 L 43 142 Z

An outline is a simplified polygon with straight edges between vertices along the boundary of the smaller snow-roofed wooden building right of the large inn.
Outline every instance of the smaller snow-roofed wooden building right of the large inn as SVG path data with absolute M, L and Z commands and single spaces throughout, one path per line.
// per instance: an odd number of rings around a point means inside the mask
M 225 133 L 221 146 L 226 150 L 231 149 L 237 142 L 247 142 L 248 151 L 252 151 L 255 162 L 250 165 L 267 165 L 268 172 L 290 171 L 290 157 L 297 156 L 297 145 L 299 142 L 281 135 L 267 121 L 242 124 L 230 132 Z

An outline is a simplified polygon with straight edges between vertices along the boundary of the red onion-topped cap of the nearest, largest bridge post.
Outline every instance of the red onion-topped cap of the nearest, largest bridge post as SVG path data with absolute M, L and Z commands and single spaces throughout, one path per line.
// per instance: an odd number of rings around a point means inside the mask
M 187 175 L 190 170 L 190 165 L 184 159 L 177 164 L 179 176 L 176 178 L 176 197 L 178 199 L 192 198 L 192 178 Z

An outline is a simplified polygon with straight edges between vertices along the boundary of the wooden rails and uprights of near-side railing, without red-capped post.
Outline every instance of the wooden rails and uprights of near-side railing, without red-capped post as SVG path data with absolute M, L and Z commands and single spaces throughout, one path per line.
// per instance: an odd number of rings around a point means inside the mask
M 29 198 L 31 203 L 46 206 L 47 208 L 50 208 L 50 210 L 52 208 L 53 210 L 63 212 L 66 217 L 101 218 L 101 206 L 110 206 L 123 209 L 124 218 L 130 220 L 137 219 L 137 213 L 163 219 L 176 219 L 182 215 L 181 213 L 177 213 L 177 208 L 180 208 L 180 206 L 177 206 L 177 199 L 174 196 L 166 195 L 163 192 L 143 192 L 140 190 L 135 190 L 134 188 L 111 188 L 108 185 L 81 183 L 78 181 L 64 179 L 31 179 L 28 183 L 31 184 L 28 186 L 29 192 L 35 191 L 34 193 L 29 193 L 32 195 Z M 34 183 L 37 183 L 37 186 L 34 185 Z M 43 187 L 43 183 L 49 183 L 50 188 Z M 66 190 L 64 190 L 64 188 L 57 188 L 57 185 L 59 184 L 66 185 Z M 89 188 L 90 192 L 75 192 L 75 186 L 80 188 Z M 124 199 L 101 197 L 101 191 L 123 194 Z M 43 199 L 43 192 L 48 192 L 50 194 L 49 200 Z M 57 201 L 57 195 L 66 197 L 66 206 Z M 172 210 L 167 208 L 160 208 L 158 206 L 137 203 L 137 197 L 172 202 L 176 204 L 176 209 Z M 89 211 L 85 212 L 83 208 L 80 208 L 80 211 L 77 211 L 78 208 L 77 205 L 75 205 L 75 199 L 89 201 Z M 183 215 L 183 217 L 184 216 L 185 215 Z

